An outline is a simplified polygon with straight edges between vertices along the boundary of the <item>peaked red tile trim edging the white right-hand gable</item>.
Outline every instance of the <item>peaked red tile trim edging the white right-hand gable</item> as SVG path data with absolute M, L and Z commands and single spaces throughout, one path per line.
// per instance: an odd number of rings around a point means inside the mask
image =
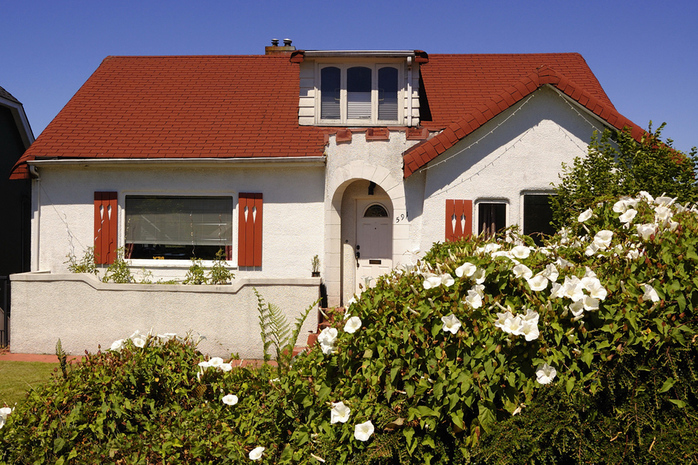
M 532 94 L 544 85 L 551 85 L 564 93 L 572 100 L 598 115 L 602 120 L 618 130 L 628 127 L 631 135 L 637 141 L 645 134 L 645 131 L 628 118 L 618 113 L 612 106 L 606 105 L 591 96 L 582 87 L 558 73 L 549 66 L 542 66 L 535 72 L 524 76 L 490 101 L 480 105 L 473 111 L 450 124 L 445 130 L 431 139 L 415 145 L 403 154 L 403 174 L 407 178 L 415 171 L 434 160 L 443 151 L 448 150 L 460 140 L 472 134 L 492 118 L 502 113 L 524 97 Z M 506 102 L 503 105 L 502 102 Z M 453 135 L 457 140 L 454 140 Z

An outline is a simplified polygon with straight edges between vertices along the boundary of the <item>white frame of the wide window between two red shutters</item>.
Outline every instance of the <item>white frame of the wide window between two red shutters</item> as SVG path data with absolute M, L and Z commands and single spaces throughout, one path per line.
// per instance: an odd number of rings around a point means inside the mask
M 239 237 L 238 225 L 237 225 L 237 213 L 238 213 L 238 203 L 239 198 L 237 193 L 232 192 L 143 192 L 143 191 L 129 191 L 119 193 L 119 246 L 126 247 L 126 228 L 127 228 L 127 212 L 126 212 L 126 198 L 127 197 L 226 197 L 230 198 L 232 204 L 232 210 L 230 212 L 232 223 L 231 223 L 231 252 L 230 259 L 225 260 L 225 266 L 230 269 L 237 268 L 237 244 L 236 239 Z M 157 268 L 188 268 L 191 266 L 191 259 L 158 259 L 158 258 L 131 258 L 128 262 L 132 267 L 157 267 Z M 204 266 L 210 267 L 213 265 L 214 260 L 202 260 L 201 263 Z

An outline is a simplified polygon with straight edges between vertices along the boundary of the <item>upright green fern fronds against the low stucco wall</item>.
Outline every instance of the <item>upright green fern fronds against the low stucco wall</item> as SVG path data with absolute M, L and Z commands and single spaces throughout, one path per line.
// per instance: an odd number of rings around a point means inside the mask
M 315 308 L 319 300 L 313 302 L 296 318 L 296 324 L 293 330 L 291 330 L 286 315 L 284 315 L 281 309 L 277 305 L 266 302 L 257 289 L 254 290 L 254 293 L 257 296 L 257 311 L 259 312 L 259 328 L 264 349 L 264 361 L 268 362 L 271 360 L 269 349 L 274 346 L 275 361 L 279 374 L 281 374 L 288 371 L 288 368 L 291 366 L 293 348 L 296 346 L 303 323 L 305 323 L 310 311 Z

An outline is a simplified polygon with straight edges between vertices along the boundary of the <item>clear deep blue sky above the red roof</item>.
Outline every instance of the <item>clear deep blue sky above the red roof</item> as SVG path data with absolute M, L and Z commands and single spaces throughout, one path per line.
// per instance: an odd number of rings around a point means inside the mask
M 0 0 L 0 86 L 35 136 L 109 55 L 579 52 L 616 108 L 698 145 L 698 1 Z

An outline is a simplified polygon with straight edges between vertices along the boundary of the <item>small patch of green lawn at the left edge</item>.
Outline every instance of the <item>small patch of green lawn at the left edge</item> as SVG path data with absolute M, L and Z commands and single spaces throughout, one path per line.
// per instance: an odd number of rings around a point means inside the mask
M 12 407 L 27 391 L 51 379 L 57 363 L 0 361 L 0 407 Z

